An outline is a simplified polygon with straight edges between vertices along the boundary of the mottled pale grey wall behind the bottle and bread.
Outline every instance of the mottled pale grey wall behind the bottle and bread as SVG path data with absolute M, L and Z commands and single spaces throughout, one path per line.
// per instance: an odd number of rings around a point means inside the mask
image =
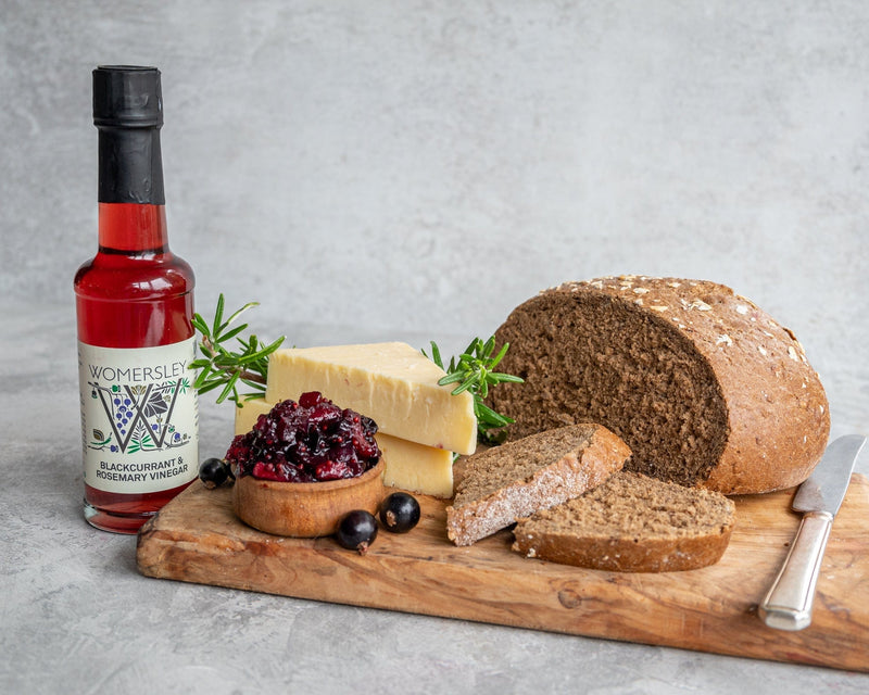
M 869 344 L 865 2 L 0 7 L 8 303 L 71 305 L 90 72 L 154 64 L 203 313 L 465 342 L 563 280 L 696 277 L 792 328 L 834 415 L 867 395 L 828 368 Z

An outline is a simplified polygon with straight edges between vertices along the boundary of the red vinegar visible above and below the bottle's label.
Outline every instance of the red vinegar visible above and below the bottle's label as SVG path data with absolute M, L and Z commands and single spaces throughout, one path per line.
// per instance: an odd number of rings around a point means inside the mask
M 168 249 L 165 207 L 100 203 L 99 239 L 97 255 L 75 276 L 78 340 L 152 348 L 192 337 L 193 271 Z M 136 533 L 188 484 L 142 494 L 86 484 L 85 517 L 105 531 Z

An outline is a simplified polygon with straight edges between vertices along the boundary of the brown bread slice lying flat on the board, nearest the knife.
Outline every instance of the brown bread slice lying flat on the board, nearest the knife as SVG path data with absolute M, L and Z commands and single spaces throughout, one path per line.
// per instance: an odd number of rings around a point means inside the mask
M 594 490 L 521 519 L 513 549 L 620 572 L 669 572 L 717 563 L 734 505 L 722 494 L 619 471 Z

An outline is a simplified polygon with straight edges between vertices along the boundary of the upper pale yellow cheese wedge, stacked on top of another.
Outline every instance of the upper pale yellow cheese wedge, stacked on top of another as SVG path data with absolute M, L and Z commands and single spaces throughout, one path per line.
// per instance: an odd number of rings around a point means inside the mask
M 377 422 L 385 434 L 473 454 L 474 396 L 438 386 L 443 369 L 406 343 L 278 350 L 268 359 L 266 401 L 319 391 L 341 407 Z

